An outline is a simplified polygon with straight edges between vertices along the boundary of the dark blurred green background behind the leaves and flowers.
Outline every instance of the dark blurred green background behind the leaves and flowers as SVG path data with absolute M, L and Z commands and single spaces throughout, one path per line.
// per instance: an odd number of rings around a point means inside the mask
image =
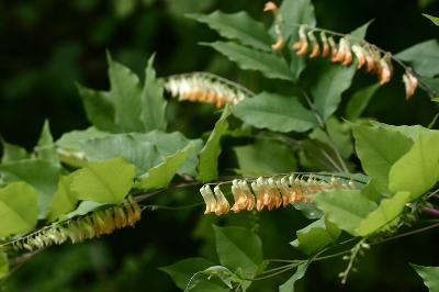
M 420 12 L 439 15 L 439 1 L 315 0 L 318 26 L 349 32 L 374 19 L 368 40 L 398 52 L 418 42 L 438 38 L 439 30 Z M 199 42 L 217 35 L 185 13 L 246 10 L 270 23 L 259 0 L 33 0 L 0 2 L 0 135 L 31 149 L 45 119 L 55 138 L 88 122 L 75 82 L 108 89 L 105 49 L 114 59 L 138 75 L 156 53 L 158 76 L 207 70 L 239 81 L 254 91 L 288 90 L 263 80 L 257 72 L 243 72 L 225 57 Z M 361 85 L 357 77 L 356 83 Z M 357 80 L 359 79 L 359 80 Z M 368 108 L 368 116 L 391 124 L 427 125 L 437 112 L 420 96 L 402 100 L 399 82 L 380 89 Z M 389 109 L 397 109 L 390 111 Z M 198 115 L 188 114 L 198 112 Z M 171 128 L 189 137 L 212 128 L 215 116 L 203 105 L 170 103 Z M 200 122 L 202 119 L 203 122 Z M 185 204 L 196 194 L 173 192 L 159 198 L 162 204 Z M 289 246 L 294 231 L 306 220 L 299 212 L 262 212 L 230 215 L 225 220 L 204 217 L 202 210 L 146 212 L 136 229 L 123 229 L 104 239 L 54 247 L 37 255 L 14 272 L 8 291 L 177 291 L 157 268 L 198 255 L 214 258 L 211 224 L 255 227 L 259 222 L 266 258 L 293 258 Z M 438 265 L 435 232 L 391 242 L 361 261 L 360 272 L 346 287 L 337 273 L 340 259 L 313 265 L 301 288 L 316 291 L 421 291 L 421 281 L 407 262 Z M 436 249 L 435 249 L 436 248 Z M 254 291 L 273 291 L 289 274 L 254 284 Z

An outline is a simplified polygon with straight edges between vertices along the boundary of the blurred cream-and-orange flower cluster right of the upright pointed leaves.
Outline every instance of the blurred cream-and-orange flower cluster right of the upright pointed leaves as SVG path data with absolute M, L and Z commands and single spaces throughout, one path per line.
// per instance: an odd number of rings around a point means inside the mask
M 207 72 L 170 76 L 165 79 L 165 89 L 180 101 L 213 103 L 217 108 L 237 104 L 250 93 L 237 83 Z

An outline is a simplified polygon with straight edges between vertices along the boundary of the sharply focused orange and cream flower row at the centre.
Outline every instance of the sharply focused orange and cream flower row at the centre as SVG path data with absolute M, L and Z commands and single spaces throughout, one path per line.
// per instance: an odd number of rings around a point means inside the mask
M 313 176 L 304 179 L 294 175 L 282 178 L 260 177 L 251 181 L 235 179 L 230 188 L 235 201 L 232 207 L 218 186 L 212 192 L 211 187 L 204 184 L 200 192 L 206 204 L 204 214 L 215 213 L 216 215 L 223 215 L 228 213 L 229 210 L 238 213 L 254 209 L 262 211 L 267 207 L 271 211 L 297 202 L 311 203 L 312 196 L 316 193 L 353 188 L 353 182 L 345 183 L 335 177 L 330 181 L 317 179 L 317 177 Z

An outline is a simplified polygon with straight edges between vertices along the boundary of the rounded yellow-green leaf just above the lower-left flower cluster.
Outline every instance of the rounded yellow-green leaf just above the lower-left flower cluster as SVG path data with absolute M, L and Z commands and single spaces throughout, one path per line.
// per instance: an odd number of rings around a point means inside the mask
M 133 187 L 135 167 L 123 158 L 90 162 L 77 171 L 71 190 L 79 200 L 119 204 Z

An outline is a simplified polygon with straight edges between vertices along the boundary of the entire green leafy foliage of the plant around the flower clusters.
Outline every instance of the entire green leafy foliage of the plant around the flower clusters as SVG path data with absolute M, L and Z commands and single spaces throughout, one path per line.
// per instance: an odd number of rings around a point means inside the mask
M 279 12 L 285 24 L 316 25 L 314 7 L 308 0 L 285 0 Z M 3 142 L 1 274 L 8 273 L 8 243 L 35 228 L 117 205 L 128 194 L 140 200 L 145 192 L 167 188 L 176 175 L 179 180 L 199 182 L 217 179 L 223 173 L 218 157 L 224 136 L 248 141 L 233 148 L 238 175 L 300 170 L 352 176 L 360 171 L 354 164 L 357 155 L 368 176 L 367 186 L 360 190 L 322 192 L 314 196 L 315 205 L 294 205 L 315 221 L 295 231 L 296 239 L 291 243 L 306 257 L 293 259 L 284 267 L 268 269 L 271 261 L 263 260 L 261 239 L 256 233 L 214 227 L 221 266 L 191 258 L 162 268 L 182 290 L 246 291 L 256 280 L 296 268 L 280 285 L 280 291 L 294 291 L 308 265 L 339 256 L 322 254 L 348 237 L 354 245 L 342 251 L 349 254 L 348 268 L 341 273 L 346 281 L 359 254 L 413 224 L 421 207 L 431 206 L 428 192 L 439 180 L 438 131 L 362 119 L 378 90 L 375 83 L 354 90 L 347 104 L 342 104 L 357 72 L 354 66 L 307 60 L 290 48 L 272 52 L 279 32 L 274 27 L 267 30 L 246 12 L 217 11 L 190 16 L 227 38 L 205 45 L 236 61 L 241 69 L 288 82 L 291 93 L 258 92 L 236 105 L 226 105 L 205 142 L 189 139 L 180 132 L 167 132 L 167 101 L 153 69 L 154 57 L 140 82 L 109 55 L 110 90 L 78 86 L 91 127 L 66 133 L 54 142 L 46 123 L 32 154 Z M 350 35 L 364 38 L 369 24 Z M 297 41 L 295 26 L 283 25 L 280 33 L 289 47 Z M 438 42 L 431 40 L 395 57 L 409 64 L 423 82 L 437 90 L 438 54 Z M 415 269 L 431 291 L 437 289 L 437 268 Z

